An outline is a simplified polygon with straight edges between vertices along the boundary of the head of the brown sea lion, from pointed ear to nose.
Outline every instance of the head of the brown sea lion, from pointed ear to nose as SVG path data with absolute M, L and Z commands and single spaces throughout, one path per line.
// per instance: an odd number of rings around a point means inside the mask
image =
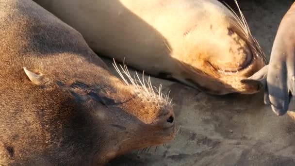
M 65 68 L 62 72 L 55 71 L 55 76 L 50 76 L 51 71 L 40 74 L 24 67 L 33 83 L 30 86 L 38 91 L 33 92 L 39 94 L 33 95 L 34 100 L 41 100 L 38 107 L 51 110 L 40 113 L 46 115 L 39 120 L 54 131 L 50 134 L 51 146 L 80 147 L 82 153 L 89 155 L 88 160 L 105 164 L 131 150 L 159 146 L 174 138 L 173 107 L 161 89 L 157 93 L 150 80 L 131 79 L 127 68 L 120 71 L 115 65 L 122 81 L 107 70 L 89 67 L 92 71 L 83 71 L 81 67 L 80 71 L 71 72 Z M 76 77 L 69 78 L 68 73 Z

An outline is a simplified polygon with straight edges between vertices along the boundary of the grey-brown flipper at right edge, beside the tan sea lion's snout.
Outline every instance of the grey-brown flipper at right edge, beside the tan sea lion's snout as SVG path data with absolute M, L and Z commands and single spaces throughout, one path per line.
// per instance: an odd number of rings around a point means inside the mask
M 270 104 L 278 116 L 287 113 L 289 103 L 295 95 L 295 31 L 292 29 L 294 25 L 295 3 L 279 24 L 269 65 L 249 78 L 262 82 L 265 87 L 264 103 Z

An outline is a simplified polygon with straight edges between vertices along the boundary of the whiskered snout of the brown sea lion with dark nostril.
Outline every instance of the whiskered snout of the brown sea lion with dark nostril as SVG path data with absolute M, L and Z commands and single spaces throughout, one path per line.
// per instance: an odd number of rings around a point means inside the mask
M 150 79 L 138 75 L 137 79 L 132 78 L 127 66 L 117 66 L 115 60 L 113 66 L 122 80 L 111 78 L 110 87 L 114 89 L 108 89 L 103 96 L 95 95 L 100 105 L 107 108 L 98 113 L 98 117 L 107 120 L 106 128 L 112 131 L 105 137 L 109 143 L 104 145 L 106 151 L 100 152 L 101 160 L 159 146 L 172 140 L 177 133 L 172 99 L 161 92 L 161 85 L 155 89 Z

